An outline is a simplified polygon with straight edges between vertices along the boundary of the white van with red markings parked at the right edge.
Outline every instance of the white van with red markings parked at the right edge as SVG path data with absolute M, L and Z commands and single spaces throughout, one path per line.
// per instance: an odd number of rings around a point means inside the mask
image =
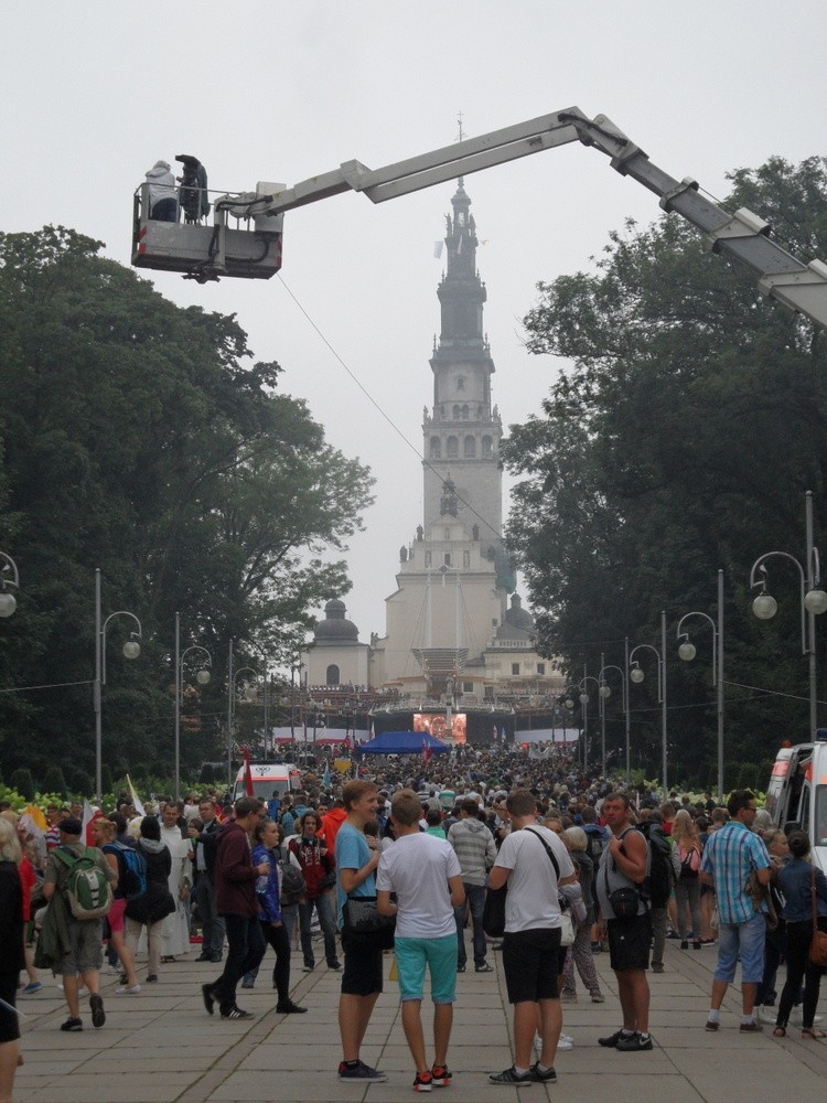
M 827 728 L 814 743 L 782 747 L 766 790 L 766 811 L 777 827 L 801 827 L 813 844 L 813 861 L 827 874 Z

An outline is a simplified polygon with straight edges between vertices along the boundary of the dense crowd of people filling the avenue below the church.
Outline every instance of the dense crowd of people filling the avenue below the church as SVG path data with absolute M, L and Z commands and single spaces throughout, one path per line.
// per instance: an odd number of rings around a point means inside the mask
M 326 968 L 341 974 L 343 1081 L 387 1079 L 359 1054 L 393 947 L 414 1086 L 451 1082 L 466 939 L 475 972 L 491 971 L 492 949 L 502 954 L 513 1005 L 513 1063 L 493 1083 L 556 1081 L 558 1049 L 574 1045 L 562 1009 L 578 999 L 577 976 L 591 1000 L 605 999 L 594 966 L 602 952 L 622 1025 L 599 1042 L 651 1050 L 647 971 L 663 972 L 667 939 L 687 952 L 717 943 L 708 1031 L 721 1027 L 740 962 L 741 1032 L 760 1031 L 763 1020 L 784 1037 L 799 1008 L 802 1037 L 824 1037 L 821 970 L 807 952 L 814 910 L 827 930 L 827 880 L 808 860 L 806 834 L 786 838 L 749 791 L 732 793 L 726 807 L 709 794 L 664 800 L 584 777 L 563 749 L 535 760 L 468 745 L 431 762 L 366 760 L 341 782 L 320 769 L 302 786 L 267 802 L 230 804 L 218 792 L 162 800 L 143 815 L 125 796 L 89 823 L 80 805 L 50 807 L 44 832 L 0 808 L 0 1103 L 11 1099 L 20 1059 L 13 1009 L 42 986 L 39 970 L 63 988 L 61 1030 L 79 1032 L 84 993 L 93 1027 L 106 1022 L 103 946 L 120 973 L 116 994 L 137 998 L 162 966 L 200 945 L 198 961 L 221 965 L 202 986 L 206 1011 L 248 1019 L 238 989 L 254 987 L 270 947 L 276 1009 L 301 1015 L 291 950 L 298 936 L 302 968 L 316 967 L 314 922 Z M 427 976 L 431 1060 L 420 1014 Z

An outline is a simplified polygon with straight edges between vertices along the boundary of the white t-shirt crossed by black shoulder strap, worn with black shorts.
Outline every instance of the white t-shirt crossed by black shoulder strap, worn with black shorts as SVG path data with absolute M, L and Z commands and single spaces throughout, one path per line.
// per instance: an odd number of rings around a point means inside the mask
M 541 835 L 554 853 L 561 878 L 574 872 L 565 844 L 548 827 L 530 825 L 528 829 L 513 831 L 504 838 L 494 868 L 511 869 L 505 898 L 507 934 L 560 925 L 557 876 L 546 848 L 538 838 L 531 838 L 531 833 Z

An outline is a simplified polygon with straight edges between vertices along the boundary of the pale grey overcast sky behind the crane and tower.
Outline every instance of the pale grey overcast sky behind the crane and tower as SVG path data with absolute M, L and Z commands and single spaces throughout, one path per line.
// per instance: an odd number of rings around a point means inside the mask
M 656 164 L 718 196 L 733 168 L 824 152 L 823 0 L 6 0 L 0 29 L 0 229 L 62 224 L 125 265 L 135 188 L 182 152 L 201 158 L 211 189 L 241 191 L 436 149 L 455 139 L 460 111 L 471 137 L 571 106 L 608 115 Z M 439 330 L 433 243 L 454 186 L 289 213 L 270 281 L 151 274 L 182 306 L 235 313 L 256 358 L 284 368 L 282 388 L 370 465 L 377 501 L 352 544 L 345 597 L 363 641 L 384 634 L 398 548 L 422 520 L 420 460 L 287 288 L 419 451 Z M 493 400 L 519 422 L 560 367 L 523 347 L 537 281 L 589 269 L 610 231 L 655 219 L 657 201 L 579 143 L 465 186 L 484 243 Z

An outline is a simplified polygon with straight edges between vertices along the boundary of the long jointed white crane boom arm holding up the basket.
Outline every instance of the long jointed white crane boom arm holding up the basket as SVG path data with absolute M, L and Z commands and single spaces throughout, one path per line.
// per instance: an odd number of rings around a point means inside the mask
M 758 215 L 745 207 L 734 213 L 726 211 L 700 194 L 697 181 L 676 180 L 653 164 L 611 119 L 604 115 L 590 119 L 577 107 L 492 130 L 382 169 L 346 161 L 332 172 L 311 176 L 273 194 L 240 204 L 227 196 L 219 203 L 234 213 L 250 215 L 279 215 L 346 191 L 363 192 L 372 202 L 384 203 L 457 175 L 572 141 L 605 153 L 613 169 L 654 192 L 664 211 L 674 211 L 700 229 L 709 248 L 749 268 L 764 295 L 827 329 L 827 265 L 820 260 L 809 264 L 798 260 L 767 236 L 770 226 Z

